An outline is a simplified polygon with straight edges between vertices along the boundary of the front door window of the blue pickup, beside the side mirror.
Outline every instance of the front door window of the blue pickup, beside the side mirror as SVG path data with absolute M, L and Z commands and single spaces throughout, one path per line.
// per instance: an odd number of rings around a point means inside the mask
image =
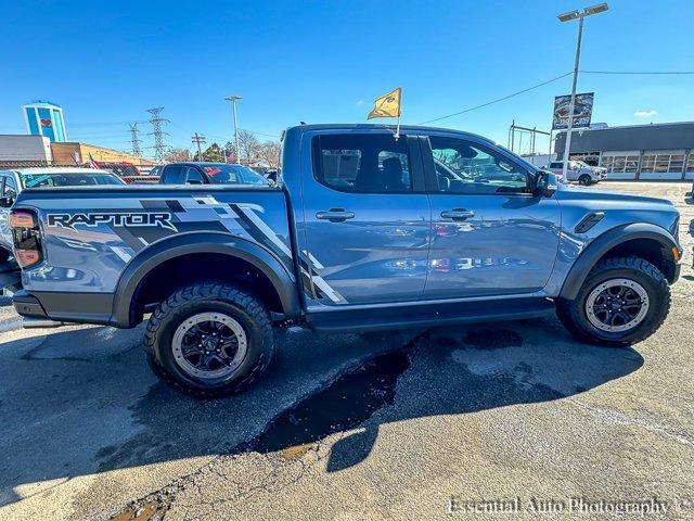
M 528 193 L 525 168 L 488 147 L 454 138 L 429 137 L 438 188 L 448 193 Z

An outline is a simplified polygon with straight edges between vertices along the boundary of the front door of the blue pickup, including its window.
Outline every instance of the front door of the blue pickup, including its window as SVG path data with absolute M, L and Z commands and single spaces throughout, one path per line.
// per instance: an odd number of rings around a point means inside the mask
M 556 200 L 532 195 L 530 170 L 486 141 L 430 136 L 423 143 L 433 223 L 425 297 L 541 290 L 558 249 Z

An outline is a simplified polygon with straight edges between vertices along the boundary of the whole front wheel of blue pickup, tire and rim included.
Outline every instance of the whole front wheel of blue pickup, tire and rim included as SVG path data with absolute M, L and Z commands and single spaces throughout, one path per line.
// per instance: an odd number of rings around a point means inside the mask
M 651 336 L 670 310 L 670 288 L 658 268 L 640 257 L 614 257 L 591 269 L 573 301 L 556 314 L 579 340 L 627 346 Z

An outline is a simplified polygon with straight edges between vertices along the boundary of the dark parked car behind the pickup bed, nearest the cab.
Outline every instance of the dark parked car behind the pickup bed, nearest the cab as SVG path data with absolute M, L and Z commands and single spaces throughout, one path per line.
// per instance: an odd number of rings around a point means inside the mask
M 164 165 L 162 185 L 261 185 L 268 181 L 245 165 L 227 163 L 170 163 Z

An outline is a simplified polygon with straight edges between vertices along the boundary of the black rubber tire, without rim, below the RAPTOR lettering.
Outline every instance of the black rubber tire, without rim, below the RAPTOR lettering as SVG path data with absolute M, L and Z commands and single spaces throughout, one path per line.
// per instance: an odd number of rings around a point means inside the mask
M 247 336 L 247 353 L 239 368 L 211 381 L 183 371 L 172 350 L 179 325 L 204 312 L 233 317 Z M 144 350 L 150 367 L 168 385 L 196 398 L 215 398 L 239 393 L 262 374 L 274 351 L 274 332 L 267 309 L 255 296 L 231 284 L 198 283 L 176 291 L 157 306 L 146 325 Z

